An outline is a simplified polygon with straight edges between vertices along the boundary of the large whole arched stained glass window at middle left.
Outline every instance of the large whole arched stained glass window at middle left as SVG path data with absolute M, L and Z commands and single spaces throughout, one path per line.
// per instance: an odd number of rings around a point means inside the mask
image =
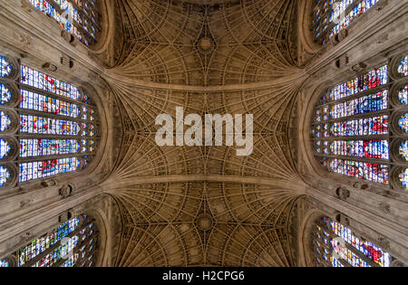
M 0 78 L 0 187 L 83 169 L 99 132 L 86 91 L 0 60 L 10 74 Z

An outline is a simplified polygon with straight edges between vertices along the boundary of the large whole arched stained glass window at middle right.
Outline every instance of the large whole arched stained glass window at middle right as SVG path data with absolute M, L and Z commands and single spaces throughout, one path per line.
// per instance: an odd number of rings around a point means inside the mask
M 389 69 L 384 64 L 325 92 L 314 109 L 311 138 L 329 172 L 405 190 L 408 81 L 393 80 Z

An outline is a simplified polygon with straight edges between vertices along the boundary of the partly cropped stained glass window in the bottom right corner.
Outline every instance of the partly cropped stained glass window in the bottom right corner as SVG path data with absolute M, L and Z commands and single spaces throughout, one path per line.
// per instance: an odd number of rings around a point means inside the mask
M 323 267 L 390 267 L 392 261 L 388 252 L 325 217 L 314 224 L 313 244 L 316 264 Z

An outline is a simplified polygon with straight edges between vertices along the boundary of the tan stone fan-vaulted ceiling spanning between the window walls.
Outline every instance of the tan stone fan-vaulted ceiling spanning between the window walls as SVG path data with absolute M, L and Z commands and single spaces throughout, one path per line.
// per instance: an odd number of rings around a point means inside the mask
M 296 0 L 116 5 L 106 80 L 122 139 L 103 186 L 121 208 L 117 265 L 294 265 Z M 158 147 L 155 118 L 177 106 L 254 114 L 253 154 Z

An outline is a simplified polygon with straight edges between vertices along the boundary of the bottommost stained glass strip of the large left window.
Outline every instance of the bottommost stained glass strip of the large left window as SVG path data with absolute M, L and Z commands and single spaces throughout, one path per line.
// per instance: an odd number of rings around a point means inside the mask
M 78 169 L 81 161 L 76 157 L 20 163 L 19 181 L 56 176 Z

